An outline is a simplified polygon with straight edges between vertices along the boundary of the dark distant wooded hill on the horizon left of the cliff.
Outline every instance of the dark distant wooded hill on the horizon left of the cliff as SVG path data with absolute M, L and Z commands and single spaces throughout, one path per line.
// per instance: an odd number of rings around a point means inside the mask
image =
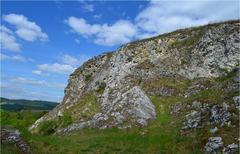
M 25 100 L 25 99 L 7 99 L 0 97 L 1 109 L 8 111 L 20 111 L 20 110 L 51 110 L 58 103 L 39 101 L 39 100 Z

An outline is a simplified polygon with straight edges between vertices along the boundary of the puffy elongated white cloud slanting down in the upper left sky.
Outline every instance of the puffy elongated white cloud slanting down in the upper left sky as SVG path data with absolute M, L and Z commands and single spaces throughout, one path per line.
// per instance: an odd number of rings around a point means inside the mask
M 41 27 L 35 22 L 29 21 L 28 18 L 23 15 L 3 15 L 3 20 L 16 26 L 16 34 L 26 41 L 34 42 L 38 39 L 40 41 L 46 41 L 48 39 L 47 34 L 42 32 Z

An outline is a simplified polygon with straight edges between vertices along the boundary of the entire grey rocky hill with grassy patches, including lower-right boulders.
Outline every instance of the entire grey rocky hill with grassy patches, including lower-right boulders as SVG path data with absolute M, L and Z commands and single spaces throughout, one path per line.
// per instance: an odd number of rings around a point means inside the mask
M 94 57 L 70 75 L 62 103 L 30 130 L 155 126 L 166 113 L 182 135 L 207 132 L 200 136 L 207 153 L 236 152 L 239 26 L 237 20 L 177 30 Z

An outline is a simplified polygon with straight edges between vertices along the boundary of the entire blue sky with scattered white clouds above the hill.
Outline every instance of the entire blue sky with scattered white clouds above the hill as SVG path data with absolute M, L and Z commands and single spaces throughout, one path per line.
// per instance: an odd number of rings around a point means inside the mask
M 68 76 L 120 45 L 239 19 L 239 1 L 1 1 L 1 96 L 60 102 Z

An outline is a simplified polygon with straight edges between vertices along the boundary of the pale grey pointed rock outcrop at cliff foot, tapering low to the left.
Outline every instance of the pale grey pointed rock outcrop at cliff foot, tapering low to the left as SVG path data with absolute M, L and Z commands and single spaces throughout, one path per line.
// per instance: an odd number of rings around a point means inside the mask
M 156 116 L 155 107 L 139 87 L 133 87 L 119 96 L 116 104 L 105 105 L 107 112 L 97 113 L 86 122 L 74 123 L 63 130 L 64 133 L 85 127 L 100 129 L 120 126 L 127 128 L 129 124 L 146 126 L 147 121 Z M 130 121 L 128 121 L 130 119 Z M 130 125 L 131 127 L 131 125 Z

